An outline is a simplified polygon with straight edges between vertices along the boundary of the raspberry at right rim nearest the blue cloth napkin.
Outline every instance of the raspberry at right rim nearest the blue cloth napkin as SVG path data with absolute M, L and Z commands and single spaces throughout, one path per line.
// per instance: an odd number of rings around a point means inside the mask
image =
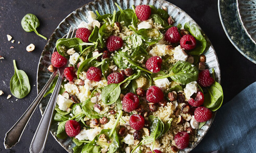
M 197 122 L 205 122 L 212 118 L 212 111 L 204 106 L 197 107 L 194 116 Z

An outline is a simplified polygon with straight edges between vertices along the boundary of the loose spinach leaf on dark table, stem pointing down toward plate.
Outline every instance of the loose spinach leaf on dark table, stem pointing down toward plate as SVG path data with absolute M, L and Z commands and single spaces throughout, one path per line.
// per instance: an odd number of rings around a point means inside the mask
M 36 18 L 34 14 L 26 14 L 21 20 L 21 26 L 26 32 L 34 31 L 38 36 L 47 40 L 46 37 L 44 37 L 36 31 L 36 28 L 39 27 L 39 25 L 39 20 L 38 18 Z

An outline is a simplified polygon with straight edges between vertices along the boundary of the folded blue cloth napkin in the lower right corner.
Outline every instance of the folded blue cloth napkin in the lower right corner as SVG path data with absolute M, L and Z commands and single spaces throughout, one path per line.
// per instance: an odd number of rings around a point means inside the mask
M 256 82 L 221 106 L 202 142 L 191 153 L 256 152 Z

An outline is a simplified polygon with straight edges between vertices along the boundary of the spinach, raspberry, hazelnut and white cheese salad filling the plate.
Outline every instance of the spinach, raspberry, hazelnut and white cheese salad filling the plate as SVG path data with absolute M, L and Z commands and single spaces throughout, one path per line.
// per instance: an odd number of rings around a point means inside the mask
M 116 6 L 113 14 L 88 11 L 76 38 L 56 42 L 48 69 L 69 65 L 54 135 L 71 139 L 74 153 L 179 152 L 223 101 L 205 66 L 204 34 L 175 23 L 164 7 Z

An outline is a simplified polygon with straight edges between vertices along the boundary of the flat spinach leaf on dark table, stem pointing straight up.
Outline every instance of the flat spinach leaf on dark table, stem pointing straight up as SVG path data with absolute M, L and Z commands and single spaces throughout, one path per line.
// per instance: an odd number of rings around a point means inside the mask
M 20 69 L 17 69 L 16 62 L 13 60 L 14 75 L 10 80 L 10 89 L 12 95 L 16 98 L 24 98 L 30 91 L 30 84 L 27 74 Z

